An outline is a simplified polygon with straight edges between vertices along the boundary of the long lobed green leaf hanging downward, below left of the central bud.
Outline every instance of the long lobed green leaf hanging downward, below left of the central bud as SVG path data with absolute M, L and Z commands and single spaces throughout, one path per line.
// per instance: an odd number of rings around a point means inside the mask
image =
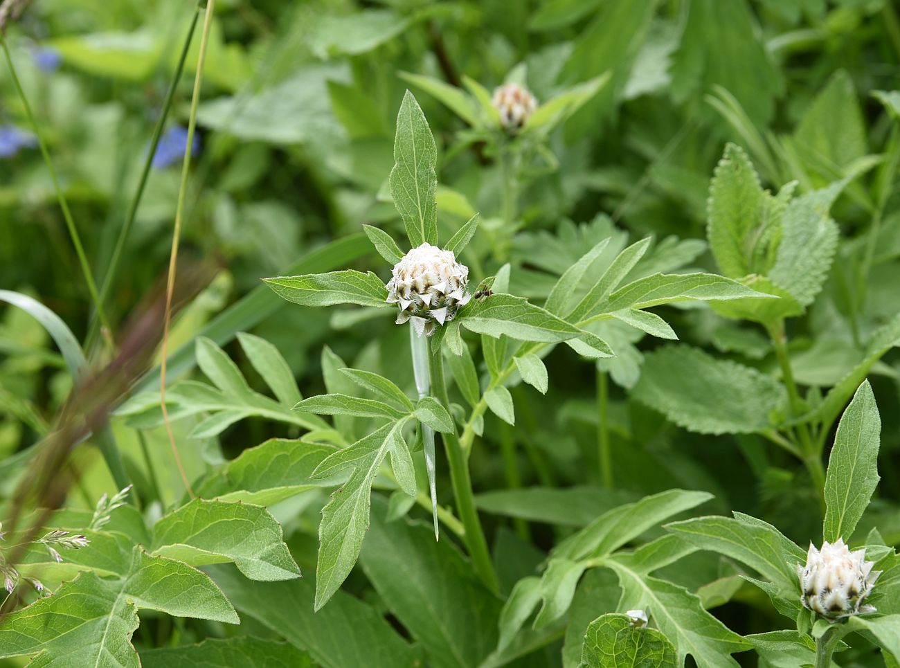
M 319 610 L 347 579 L 356 564 L 369 527 L 372 483 L 384 457 L 395 452 L 394 429 L 402 429 L 405 420 L 386 424 L 350 447 L 328 456 L 316 469 L 321 478 L 347 469 L 352 473 L 347 482 L 331 495 L 322 509 L 319 525 L 319 561 L 316 567 L 316 601 Z M 392 455 L 393 456 L 393 455 Z

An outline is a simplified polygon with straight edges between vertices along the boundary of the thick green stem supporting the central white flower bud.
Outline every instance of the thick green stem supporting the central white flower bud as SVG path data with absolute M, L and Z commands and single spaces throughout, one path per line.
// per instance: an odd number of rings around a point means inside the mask
M 437 401 L 449 412 L 450 400 L 444 382 L 444 358 L 441 357 L 440 348 L 431 352 L 430 361 L 432 391 Z M 469 476 L 465 453 L 455 434 L 441 434 L 441 438 L 444 441 L 447 461 L 450 463 L 450 480 L 453 483 L 457 514 L 465 528 L 463 538 L 469 555 L 472 556 L 475 572 L 491 591 L 499 591 L 500 585 L 497 582 L 497 573 L 494 573 L 487 540 L 484 538 L 482 521 L 478 517 L 478 511 L 475 510 L 472 478 Z

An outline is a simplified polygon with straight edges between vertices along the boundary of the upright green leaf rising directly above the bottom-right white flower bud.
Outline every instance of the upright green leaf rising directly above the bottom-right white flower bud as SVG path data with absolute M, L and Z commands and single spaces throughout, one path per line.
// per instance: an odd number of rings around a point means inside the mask
M 849 541 L 878 487 L 881 418 L 869 381 L 864 381 L 844 411 L 834 435 L 825 476 L 824 540 Z

